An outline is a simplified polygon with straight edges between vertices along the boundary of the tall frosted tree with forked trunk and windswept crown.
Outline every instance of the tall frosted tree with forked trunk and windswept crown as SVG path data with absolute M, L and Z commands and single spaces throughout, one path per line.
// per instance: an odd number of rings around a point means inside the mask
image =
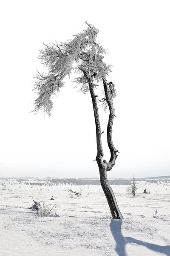
M 77 34 L 73 40 L 61 44 L 45 45 L 45 49 L 40 50 L 38 58 L 40 58 L 42 64 L 48 67 L 48 74 L 45 75 L 39 72 L 37 74 L 34 90 L 37 91 L 38 97 L 34 102 L 34 112 L 37 113 L 39 110 L 43 110 L 44 113 L 48 113 L 50 116 L 53 107 L 51 96 L 59 93 L 60 88 L 64 85 L 63 79 L 65 76 L 68 75 L 70 77 L 72 70 L 77 71 L 79 76 L 74 79 L 77 82 L 77 86 L 81 85 L 80 90 L 83 93 L 90 91 L 91 94 L 96 125 L 96 162 L 99 167 L 102 189 L 107 198 L 113 219 L 120 219 L 123 216 L 107 178 L 107 172 L 111 171 L 115 166 L 117 153 L 119 152 L 112 141 L 112 126 L 115 116 L 113 108 L 115 88 L 112 82 L 107 82 L 111 67 L 103 61 L 105 50 L 96 42 L 96 36 L 99 31 L 91 24 L 85 23 L 88 28 Z M 107 141 L 111 157 L 108 162 L 102 160 L 104 155 L 101 140 L 102 133 L 97 105 L 98 96 L 95 94 L 95 89 L 99 86 L 99 82 L 102 82 L 104 93 L 104 97 L 100 99 L 100 102 L 104 108 L 108 106 L 109 109 Z

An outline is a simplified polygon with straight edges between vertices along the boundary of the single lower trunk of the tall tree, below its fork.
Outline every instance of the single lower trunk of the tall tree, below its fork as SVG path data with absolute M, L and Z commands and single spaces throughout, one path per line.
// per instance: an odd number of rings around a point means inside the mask
M 113 219 L 123 219 L 123 216 L 122 216 L 122 214 L 119 210 L 119 207 L 117 205 L 113 190 L 108 183 L 106 169 L 99 169 L 99 173 L 100 173 L 100 183 L 101 183 L 102 189 L 105 193 L 106 199 L 108 201 L 108 205 L 111 210 L 111 215 L 112 215 Z

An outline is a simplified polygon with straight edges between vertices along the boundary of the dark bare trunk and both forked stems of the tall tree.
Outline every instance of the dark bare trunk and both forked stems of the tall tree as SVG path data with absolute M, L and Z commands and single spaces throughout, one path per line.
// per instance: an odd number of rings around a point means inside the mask
M 99 112 L 97 107 L 97 101 L 96 101 L 96 95 L 94 93 L 94 84 L 93 84 L 93 78 L 91 78 L 86 70 L 81 69 L 83 73 L 85 74 L 86 79 L 88 80 L 89 89 L 91 93 L 91 99 L 93 103 L 93 109 L 94 109 L 94 119 L 96 124 L 96 143 L 97 143 L 97 155 L 96 155 L 96 162 L 99 167 L 99 174 L 100 174 L 100 183 L 103 189 L 103 192 L 105 193 L 105 197 L 108 201 L 109 208 L 111 210 L 111 215 L 113 219 L 123 219 L 123 216 L 119 210 L 119 207 L 116 202 L 116 198 L 114 196 L 113 190 L 111 189 L 111 186 L 108 183 L 108 177 L 107 177 L 107 171 L 110 171 L 112 167 L 114 166 L 115 160 L 116 160 L 116 148 L 113 145 L 112 142 L 112 125 L 113 125 L 113 117 L 114 117 L 114 109 L 112 102 L 109 101 L 109 98 L 106 100 L 109 105 L 110 115 L 108 120 L 108 129 L 107 129 L 107 139 L 108 139 L 108 147 L 111 151 L 111 159 L 107 163 L 106 160 L 102 160 L 103 157 L 103 149 L 102 149 L 102 140 L 101 140 L 101 128 L 100 128 L 100 121 L 99 121 Z M 105 81 L 106 83 L 106 81 Z M 104 84 L 105 90 L 107 88 L 105 87 L 106 84 Z M 107 92 L 105 91 L 105 94 L 107 96 Z

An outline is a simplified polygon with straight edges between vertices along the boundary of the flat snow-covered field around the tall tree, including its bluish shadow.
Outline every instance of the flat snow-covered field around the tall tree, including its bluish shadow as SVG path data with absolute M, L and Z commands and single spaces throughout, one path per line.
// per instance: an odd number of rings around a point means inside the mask
M 136 197 L 111 185 L 122 221 L 111 219 L 100 185 L 69 183 L 0 180 L 0 256 L 170 255 L 170 178 L 138 180 Z M 55 205 L 51 217 L 29 209 L 32 197 L 42 209 Z

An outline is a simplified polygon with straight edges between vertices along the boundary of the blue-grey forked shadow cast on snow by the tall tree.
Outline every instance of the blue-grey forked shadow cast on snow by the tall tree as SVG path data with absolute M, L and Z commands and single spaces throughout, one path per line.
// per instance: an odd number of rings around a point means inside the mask
M 116 241 L 116 252 L 119 256 L 127 256 L 125 246 L 127 243 L 135 243 L 147 247 L 150 250 L 156 251 L 158 253 L 164 253 L 167 256 L 170 256 L 170 246 L 161 246 L 158 244 L 150 244 L 132 237 L 124 237 L 121 231 L 122 221 L 121 220 L 111 220 L 111 233 L 114 240 Z

